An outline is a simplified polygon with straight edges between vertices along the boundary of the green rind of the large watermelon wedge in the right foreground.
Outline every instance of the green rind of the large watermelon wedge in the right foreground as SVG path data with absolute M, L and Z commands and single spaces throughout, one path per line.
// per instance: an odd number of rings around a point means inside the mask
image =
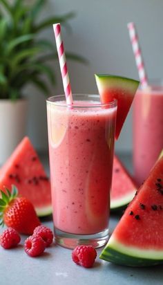
M 154 266 L 163 264 L 163 252 L 160 250 L 142 250 L 132 246 L 124 246 L 115 237 L 111 237 L 100 259 L 124 266 Z

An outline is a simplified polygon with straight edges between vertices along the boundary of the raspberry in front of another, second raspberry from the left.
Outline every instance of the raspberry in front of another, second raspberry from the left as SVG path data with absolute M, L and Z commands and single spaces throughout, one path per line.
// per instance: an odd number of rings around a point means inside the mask
M 31 235 L 24 243 L 24 250 L 30 257 L 41 255 L 45 248 L 46 243 L 39 235 Z

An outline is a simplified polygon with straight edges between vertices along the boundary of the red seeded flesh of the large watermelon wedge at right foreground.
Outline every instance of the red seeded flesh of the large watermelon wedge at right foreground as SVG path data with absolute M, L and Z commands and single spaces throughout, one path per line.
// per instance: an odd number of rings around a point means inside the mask
M 136 219 L 138 217 L 139 219 Z M 163 157 L 140 187 L 112 239 L 125 246 L 163 250 Z

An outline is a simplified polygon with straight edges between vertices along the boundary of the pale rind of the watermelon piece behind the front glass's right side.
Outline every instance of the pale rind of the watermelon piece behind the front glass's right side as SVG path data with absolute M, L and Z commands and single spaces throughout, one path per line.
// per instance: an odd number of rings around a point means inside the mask
M 126 194 L 124 197 L 120 198 L 120 199 L 113 199 L 111 200 L 111 210 L 117 210 L 118 208 L 122 208 L 126 205 L 128 205 L 128 203 L 131 202 L 131 200 L 133 200 L 133 197 L 135 196 L 135 191 L 130 192 L 128 194 Z

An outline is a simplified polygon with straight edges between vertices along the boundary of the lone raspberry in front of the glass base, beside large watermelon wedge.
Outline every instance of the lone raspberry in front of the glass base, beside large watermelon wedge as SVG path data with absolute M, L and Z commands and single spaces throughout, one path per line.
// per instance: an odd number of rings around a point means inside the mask
M 93 246 L 77 246 L 72 252 L 73 261 L 86 268 L 93 266 L 96 257 L 97 252 Z

